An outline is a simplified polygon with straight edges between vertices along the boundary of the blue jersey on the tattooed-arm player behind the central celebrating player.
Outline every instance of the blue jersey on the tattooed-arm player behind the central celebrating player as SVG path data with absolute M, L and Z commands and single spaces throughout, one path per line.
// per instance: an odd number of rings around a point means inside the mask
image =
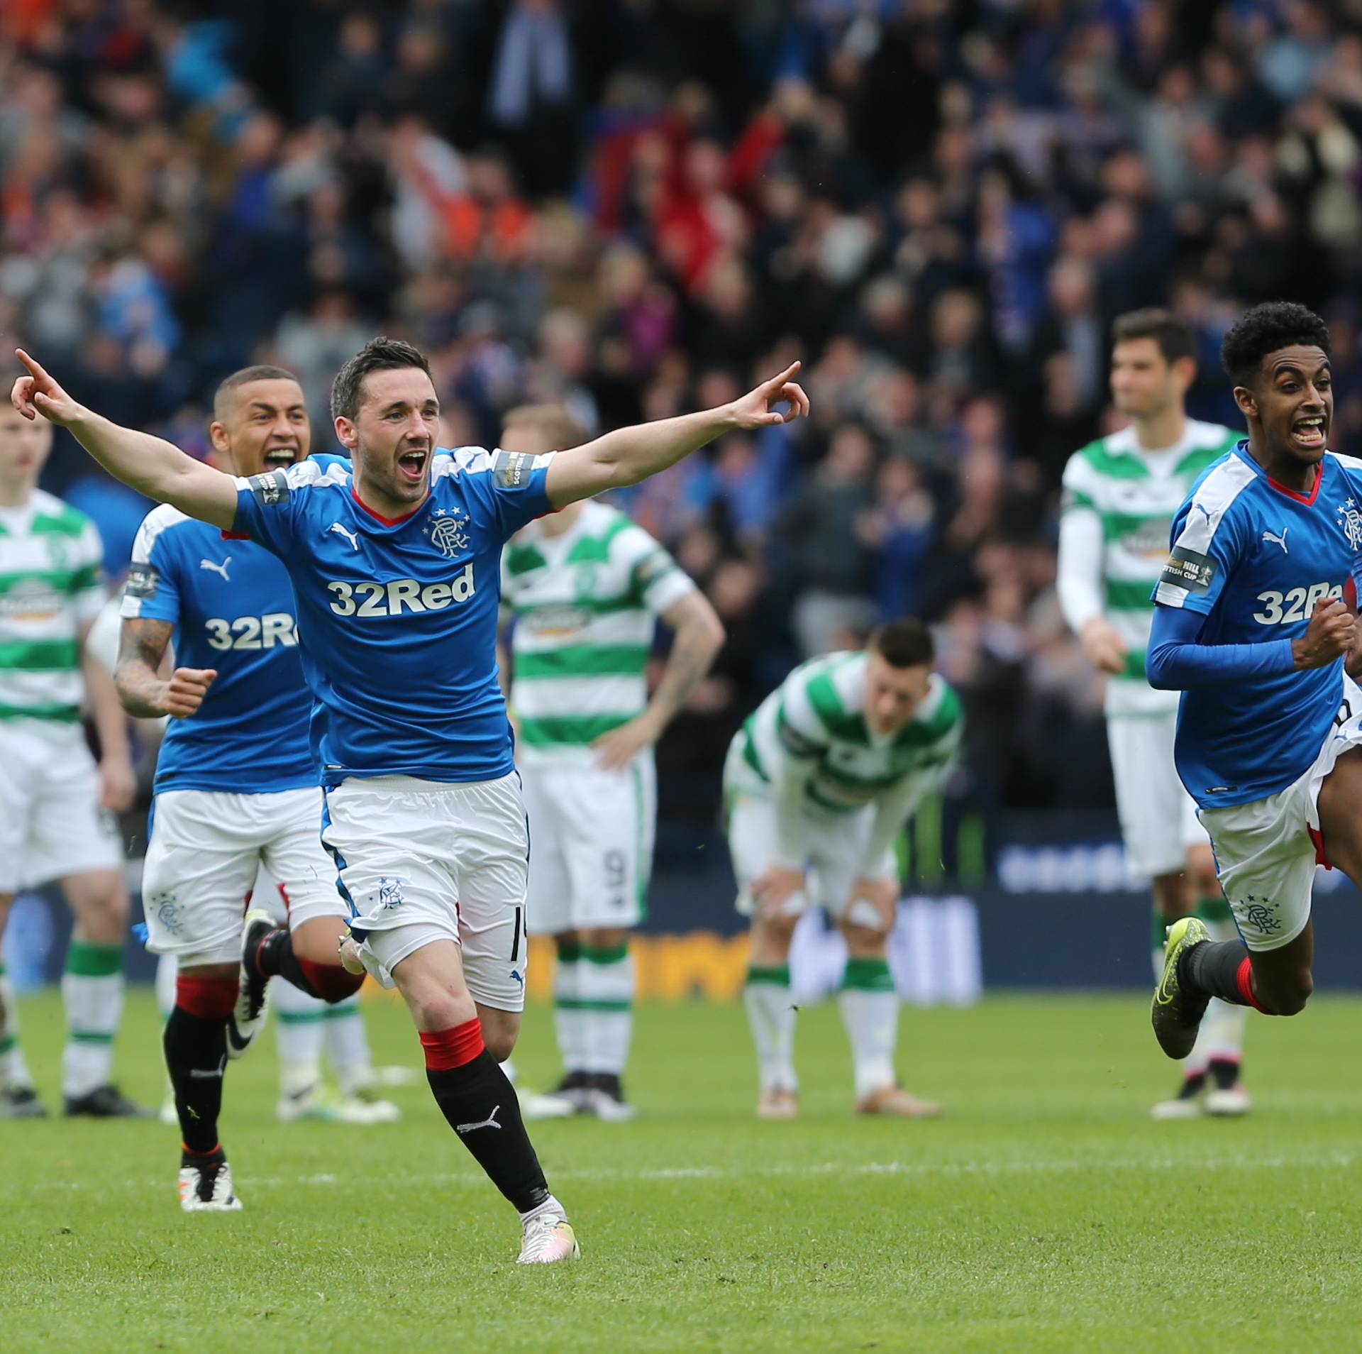
M 157 791 L 317 783 L 293 584 L 268 550 L 169 504 L 153 508 L 132 546 L 123 616 L 170 621 L 177 666 L 218 672 L 199 710 L 166 727 Z

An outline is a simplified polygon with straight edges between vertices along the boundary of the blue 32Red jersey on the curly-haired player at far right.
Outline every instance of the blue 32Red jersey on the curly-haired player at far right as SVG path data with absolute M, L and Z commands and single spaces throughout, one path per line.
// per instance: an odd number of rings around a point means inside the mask
M 1298 639 L 1314 603 L 1348 591 L 1362 549 L 1362 460 L 1327 452 L 1310 494 L 1248 454 L 1222 456 L 1173 522 L 1154 590 L 1162 606 L 1205 616 L 1199 643 Z M 1318 756 L 1343 697 L 1343 659 L 1327 667 L 1185 691 L 1174 759 L 1201 808 L 1267 798 Z

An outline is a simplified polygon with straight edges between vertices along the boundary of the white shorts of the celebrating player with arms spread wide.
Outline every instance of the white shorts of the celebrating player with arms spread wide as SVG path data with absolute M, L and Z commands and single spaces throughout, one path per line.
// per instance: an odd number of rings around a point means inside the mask
M 524 1008 L 530 835 L 519 775 L 463 785 L 354 776 L 326 791 L 321 840 L 379 982 L 394 986 L 403 959 L 452 940 L 474 1001 Z

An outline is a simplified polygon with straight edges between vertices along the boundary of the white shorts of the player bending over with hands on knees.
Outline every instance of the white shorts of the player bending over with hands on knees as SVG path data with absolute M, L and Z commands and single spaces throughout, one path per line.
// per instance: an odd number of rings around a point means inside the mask
M 723 794 L 727 805 L 729 853 L 738 880 L 737 909 L 744 917 L 750 917 L 756 911 L 752 881 L 775 864 L 780 854 L 780 835 L 775 800 L 742 760 L 741 740 L 740 733 L 729 746 Z M 813 904 L 827 909 L 840 921 L 853 902 L 853 885 L 862 875 L 896 880 L 898 864 L 892 850 L 869 872 L 861 868 L 873 825 L 873 804 L 855 813 L 801 815 L 805 889 L 791 894 L 782 911 L 789 917 L 798 917 Z

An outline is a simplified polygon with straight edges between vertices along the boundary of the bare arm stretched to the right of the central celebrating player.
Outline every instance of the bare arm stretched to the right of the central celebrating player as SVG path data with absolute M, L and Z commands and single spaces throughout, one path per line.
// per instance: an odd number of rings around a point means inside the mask
M 793 362 L 779 376 L 731 405 L 618 428 L 582 447 L 560 451 L 549 462 L 545 485 L 549 501 L 554 508 L 563 508 L 606 489 L 637 484 L 684 460 L 726 432 L 794 422 L 809 413 L 809 396 L 794 381 L 798 371 L 799 364 Z M 775 405 L 790 407 L 782 414 L 774 410 Z

